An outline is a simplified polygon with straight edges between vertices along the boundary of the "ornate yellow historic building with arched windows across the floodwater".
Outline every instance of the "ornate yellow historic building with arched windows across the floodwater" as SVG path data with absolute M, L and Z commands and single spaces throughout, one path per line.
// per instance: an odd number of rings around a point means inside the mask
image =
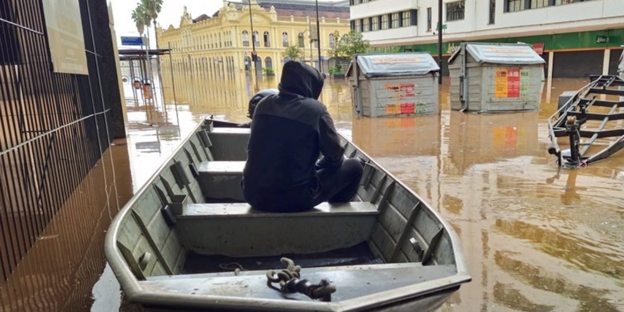
M 310 43 L 310 32 L 313 36 L 316 32 L 316 12 L 311 11 L 313 1 L 250 2 L 253 32 L 250 6 L 227 2 L 212 17 L 202 15 L 197 19 L 192 19 L 185 7 L 179 27 L 158 29 L 158 47 L 172 49 L 173 71 L 221 75 L 249 70 L 253 44 L 258 55 L 258 73 L 270 68 L 279 74 L 283 65 L 282 52 L 289 45 L 300 47 L 306 62 L 312 54 L 313 65 L 318 66 L 317 42 Z M 349 32 L 348 1 L 344 2 L 344 6 L 342 2 L 319 4 L 323 72 L 328 72 L 331 62 L 327 50 L 336 42 L 334 32 Z M 167 57 L 162 62 L 163 66 L 169 66 Z

